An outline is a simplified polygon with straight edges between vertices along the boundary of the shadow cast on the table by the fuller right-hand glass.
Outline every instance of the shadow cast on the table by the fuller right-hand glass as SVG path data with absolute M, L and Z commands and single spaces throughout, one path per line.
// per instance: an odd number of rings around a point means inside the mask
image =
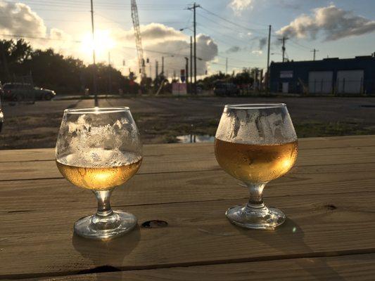
M 286 256 L 288 256 L 288 254 L 293 255 L 295 250 L 297 250 L 298 253 L 313 252 L 303 241 L 305 235 L 302 229 L 289 218 L 286 218 L 285 223 L 275 230 L 247 230 L 239 226 L 235 227 L 243 235 L 263 244 L 267 244 L 269 247 L 281 251 L 281 253 L 284 253 Z M 306 262 L 306 259 L 295 259 L 295 263 L 307 271 L 307 273 L 314 276 L 316 280 L 343 280 L 343 277 L 341 277 L 336 270 L 333 270 L 323 259 L 314 259 L 310 264 Z

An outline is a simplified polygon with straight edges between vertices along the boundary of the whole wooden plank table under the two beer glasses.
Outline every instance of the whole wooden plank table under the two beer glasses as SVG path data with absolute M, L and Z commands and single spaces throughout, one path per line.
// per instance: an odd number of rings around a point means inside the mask
M 73 235 L 96 202 L 62 178 L 54 150 L 1 151 L 0 279 L 375 280 L 375 136 L 301 139 L 291 173 L 265 190 L 288 216 L 272 231 L 227 221 L 248 192 L 217 165 L 212 143 L 144 152 L 112 196 L 139 227 L 100 242 Z M 141 227 L 152 219 L 168 226 Z

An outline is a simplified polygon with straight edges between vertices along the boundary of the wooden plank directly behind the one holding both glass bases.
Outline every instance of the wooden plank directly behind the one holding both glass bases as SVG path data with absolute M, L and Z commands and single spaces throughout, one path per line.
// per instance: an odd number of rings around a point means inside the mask
M 272 181 L 265 197 L 333 194 L 374 190 L 375 163 L 297 166 Z M 64 178 L 2 181 L 3 211 L 83 209 L 95 207 L 94 195 Z M 246 199 L 248 190 L 224 171 L 138 174 L 116 188 L 113 206 Z

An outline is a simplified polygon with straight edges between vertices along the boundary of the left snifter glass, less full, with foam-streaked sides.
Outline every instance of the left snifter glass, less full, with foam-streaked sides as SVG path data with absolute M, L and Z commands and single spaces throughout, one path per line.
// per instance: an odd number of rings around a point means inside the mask
M 136 217 L 113 211 L 110 194 L 142 162 L 139 131 L 128 107 L 65 110 L 56 142 L 56 165 L 70 183 L 92 190 L 98 210 L 75 222 L 77 235 L 107 239 L 127 233 Z

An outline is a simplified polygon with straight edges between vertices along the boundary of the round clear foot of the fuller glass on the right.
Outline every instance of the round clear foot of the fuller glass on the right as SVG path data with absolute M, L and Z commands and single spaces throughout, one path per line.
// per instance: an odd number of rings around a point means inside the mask
M 231 223 L 243 228 L 272 230 L 284 223 L 285 214 L 276 208 L 267 208 L 264 204 L 252 207 L 250 204 L 234 206 L 225 212 Z

